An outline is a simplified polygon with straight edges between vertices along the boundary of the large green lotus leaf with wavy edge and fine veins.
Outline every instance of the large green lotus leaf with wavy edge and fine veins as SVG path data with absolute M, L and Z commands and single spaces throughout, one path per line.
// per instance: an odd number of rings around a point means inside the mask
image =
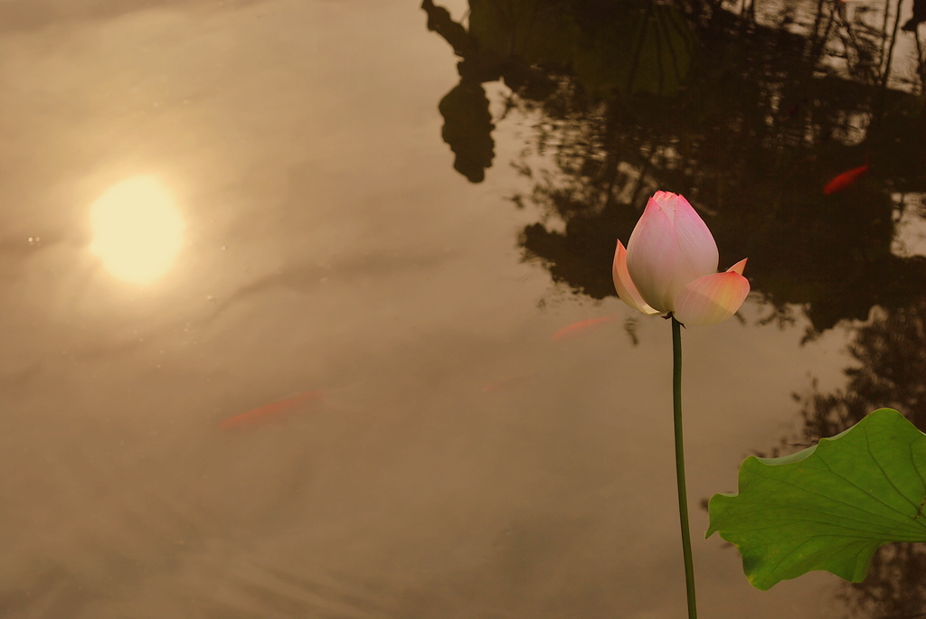
M 926 434 L 882 408 L 832 439 L 782 458 L 746 458 L 738 494 L 715 494 L 715 532 L 743 556 L 749 582 L 826 570 L 868 575 L 883 544 L 926 541 Z

